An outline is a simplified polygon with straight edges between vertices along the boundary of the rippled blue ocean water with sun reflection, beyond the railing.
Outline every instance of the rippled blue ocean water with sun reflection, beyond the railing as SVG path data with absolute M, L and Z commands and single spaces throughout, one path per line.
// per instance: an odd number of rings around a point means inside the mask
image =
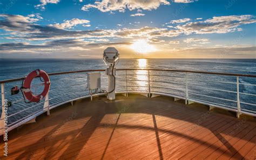
M 210 60 L 210 59 L 121 59 L 116 66 L 118 69 L 184 69 L 210 72 L 226 72 L 236 74 L 256 75 L 256 60 Z M 106 66 L 102 60 L 64 60 L 64 59 L 33 59 L 33 60 L 15 60 L 0 59 L 0 81 L 4 79 L 24 77 L 35 69 L 42 69 L 48 73 L 89 70 L 89 69 L 105 69 Z M 126 88 L 125 71 L 117 72 L 117 91 L 143 91 L 149 90 L 147 82 L 147 71 L 127 71 L 127 79 L 129 80 Z M 150 72 L 151 92 L 167 93 L 177 97 L 185 97 L 185 74 L 182 72 Z M 73 99 L 81 96 L 89 95 L 86 90 L 86 73 L 66 74 L 51 76 L 51 90 L 49 93 L 50 104 L 55 105 L 59 102 Z M 236 77 L 217 76 L 204 74 L 187 74 L 188 80 L 188 96 L 190 99 L 207 102 L 210 104 L 221 105 L 224 107 L 236 108 L 237 103 L 237 87 Z M 228 83 L 226 83 L 228 82 Z M 231 82 L 231 83 L 230 83 Z M 242 110 L 255 112 L 256 97 L 256 78 L 241 77 L 240 101 Z M 32 85 L 42 83 L 38 79 L 33 81 Z M 102 72 L 102 88 L 106 89 L 107 78 Z M 11 96 L 10 89 L 17 85 L 20 87 L 22 81 L 11 82 L 5 84 L 6 98 L 12 101 L 8 114 L 21 113 L 9 117 L 9 124 L 22 120 L 28 115 L 42 110 L 43 101 L 41 103 L 24 103 L 22 93 Z M 37 87 L 34 91 L 41 92 L 42 86 Z M 221 90 L 221 91 L 220 91 Z M 244 94 L 243 94 L 244 93 Z M 227 99 L 227 100 L 226 100 Z M 245 104 L 247 103 L 247 104 Z M 36 106 L 34 106 L 36 105 Z M 34 106 L 34 107 L 32 107 Z M 1 109 L 0 109 L 1 110 Z

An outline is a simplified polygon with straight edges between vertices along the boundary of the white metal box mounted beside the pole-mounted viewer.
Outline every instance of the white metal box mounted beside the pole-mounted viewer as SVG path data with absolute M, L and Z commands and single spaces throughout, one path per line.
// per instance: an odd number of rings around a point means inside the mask
M 100 72 L 87 73 L 87 89 L 99 89 L 100 88 Z

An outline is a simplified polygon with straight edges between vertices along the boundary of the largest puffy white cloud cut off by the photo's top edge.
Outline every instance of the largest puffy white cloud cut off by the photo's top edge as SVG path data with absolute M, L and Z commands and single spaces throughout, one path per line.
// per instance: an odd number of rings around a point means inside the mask
M 147 0 L 147 1 L 137 1 L 137 0 L 103 0 L 102 2 L 96 1 L 94 4 L 84 5 L 82 10 L 89 11 L 91 8 L 98 9 L 102 12 L 112 12 L 119 11 L 124 12 L 126 9 L 131 10 L 153 10 L 159 8 L 160 5 L 169 5 L 170 2 L 167 0 Z

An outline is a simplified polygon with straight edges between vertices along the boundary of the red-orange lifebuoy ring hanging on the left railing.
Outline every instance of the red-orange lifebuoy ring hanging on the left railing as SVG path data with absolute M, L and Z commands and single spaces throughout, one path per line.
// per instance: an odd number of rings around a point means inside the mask
M 44 90 L 41 94 L 38 94 L 38 95 L 34 95 L 30 90 L 31 82 L 33 81 L 33 78 L 35 78 L 35 77 L 42 77 L 44 79 Z M 37 70 L 32 71 L 28 76 L 26 76 L 26 78 L 24 79 L 23 86 L 22 86 L 22 91 L 23 91 L 26 99 L 28 99 L 29 101 L 39 102 L 49 92 L 50 85 L 51 85 L 51 82 L 50 82 L 50 78 L 49 78 L 48 74 L 46 74 L 46 72 L 43 70 L 37 69 Z

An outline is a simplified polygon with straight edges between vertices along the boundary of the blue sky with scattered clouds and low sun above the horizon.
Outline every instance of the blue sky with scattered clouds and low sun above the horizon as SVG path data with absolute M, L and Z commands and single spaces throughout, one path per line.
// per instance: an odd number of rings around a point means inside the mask
M 0 58 L 256 59 L 255 0 L 1 0 Z

